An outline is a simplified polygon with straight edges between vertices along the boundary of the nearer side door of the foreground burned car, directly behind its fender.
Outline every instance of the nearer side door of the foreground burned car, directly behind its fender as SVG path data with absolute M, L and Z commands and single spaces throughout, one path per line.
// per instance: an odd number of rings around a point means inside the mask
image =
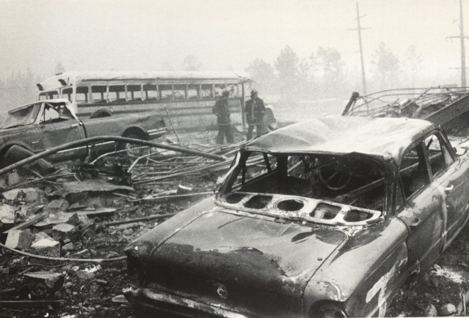
M 432 179 L 424 140 L 405 151 L 398 183 L 397 216 L 409 231 L 408 264 L 425 270 L 442 250 L 446 203 L 443 185 Z

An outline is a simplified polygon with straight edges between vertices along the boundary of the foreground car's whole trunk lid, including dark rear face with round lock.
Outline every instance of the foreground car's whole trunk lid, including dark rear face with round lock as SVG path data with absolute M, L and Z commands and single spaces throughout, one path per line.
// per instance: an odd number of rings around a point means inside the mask
M 345 237 L 333 227 L 213 211 L 153 253 L 151 264 L 157 269 L 152 280 L 171 291 L 234 307 L 252 303 L 258 308 L 261 302 L 264 310 L 276 308 L 278 314 L 278 307 L 300 306 L 308 280 Z

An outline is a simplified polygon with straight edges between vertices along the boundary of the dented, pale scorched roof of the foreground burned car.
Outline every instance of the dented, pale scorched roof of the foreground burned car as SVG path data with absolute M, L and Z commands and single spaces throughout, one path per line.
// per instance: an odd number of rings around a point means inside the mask
M 435 128 L 426 120 L 327 116 L 299 122 L 260 136 L 245 150 L 269 153 L 361 153 L 399 164 L 402 152 Z

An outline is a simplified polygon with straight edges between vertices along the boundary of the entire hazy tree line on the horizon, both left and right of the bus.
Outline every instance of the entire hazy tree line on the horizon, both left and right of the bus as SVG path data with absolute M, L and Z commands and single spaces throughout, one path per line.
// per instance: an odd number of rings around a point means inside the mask
M 358 58 L 357 54 L 357 62 Z M 413 45 L 399 59 L 390 48 L 380 43 L 368 62 L 367 91 L 415 87 L 420 79 L 421 63 L 421 53 Z M 362 74 L 358 65 L 354 69 L 346 68 L 341 53 L 333 47 L 319 47 L 308 57 L 300 58 L 292 47 L 286 45 L 273 63 L 256 58 L 245 70 L 262 95 L 272 96 L 280 102 L 295 102 L 347 99 L 352 91 L 362 94 Z M 181 61 L 179 68 L 197 71 L 203 70 L 204 66 L 196 56 L 189 55 Z M 58 62 L 53 71 L 45 76 L 35 75 L 27 68 L 26 71 L 12 73 L 7 79 L 0 79 L 0 110 L 33 102 L 36 100 L 36 84 L 64 71 L 62 63 Z

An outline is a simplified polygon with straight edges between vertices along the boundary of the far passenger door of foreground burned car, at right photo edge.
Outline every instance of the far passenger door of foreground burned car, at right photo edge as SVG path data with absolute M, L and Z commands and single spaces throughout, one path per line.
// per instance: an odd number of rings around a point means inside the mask
M 469 163 L 455 156 L 448 139 L 435 131 L 426 138 L 426 150 L 434 182 L 444 189 L 446 220 L 444 249 L 456 237 L 468 217 Z

